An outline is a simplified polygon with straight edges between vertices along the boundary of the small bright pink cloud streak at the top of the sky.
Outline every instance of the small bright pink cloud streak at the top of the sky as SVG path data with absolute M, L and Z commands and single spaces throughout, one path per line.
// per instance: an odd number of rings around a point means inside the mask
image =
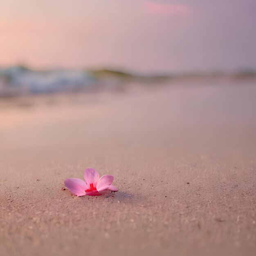
M 166 15 L 187 15 L 191 12 L 191 8 L 187 4 L 171 4 L 146 2 L 144 9 L 150 13 L 166 14 Z

